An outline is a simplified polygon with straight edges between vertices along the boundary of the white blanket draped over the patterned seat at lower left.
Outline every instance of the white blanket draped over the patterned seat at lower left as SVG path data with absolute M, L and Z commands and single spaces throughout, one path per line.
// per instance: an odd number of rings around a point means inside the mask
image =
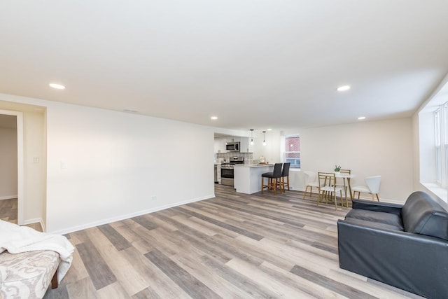
M 19 226 L 0 220 L 0 253 L 5 250 L 9 253 L 40 250 L 56 251 L 62 260 L 57 274 L 57 280 L 60 282 L 71 266 L 74 247 L 62 235 L 38 232 L 27 226 Z

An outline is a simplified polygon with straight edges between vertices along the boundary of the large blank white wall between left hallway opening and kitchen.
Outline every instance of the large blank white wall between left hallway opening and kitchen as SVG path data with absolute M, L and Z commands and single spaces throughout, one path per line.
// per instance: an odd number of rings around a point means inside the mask
M 47 126 L 49 231 L 214 197 L 209 127 L 55 103 Z

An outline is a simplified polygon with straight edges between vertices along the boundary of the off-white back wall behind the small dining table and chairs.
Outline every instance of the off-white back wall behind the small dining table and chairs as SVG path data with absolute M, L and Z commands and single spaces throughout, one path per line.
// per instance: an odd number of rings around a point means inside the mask
M 335 164 L 356 175 L 352 186 L 366 176 L 381 175 L 380 198 L 405 202 L 412 193 L 412 120 L 400 118 L 286 132 L 300 134 L 303 170 L 333 171 Z M 304 189 L 303 172 L 290 175 L 291 185 Z

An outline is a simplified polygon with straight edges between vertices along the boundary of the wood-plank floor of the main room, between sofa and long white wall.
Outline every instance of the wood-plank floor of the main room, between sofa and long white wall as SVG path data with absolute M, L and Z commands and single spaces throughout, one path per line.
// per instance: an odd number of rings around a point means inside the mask
M 73 265 L 45 298 L 419 298 L 339 269 L 349 209 L 297 191 L 216 198 L 67 235 Z

